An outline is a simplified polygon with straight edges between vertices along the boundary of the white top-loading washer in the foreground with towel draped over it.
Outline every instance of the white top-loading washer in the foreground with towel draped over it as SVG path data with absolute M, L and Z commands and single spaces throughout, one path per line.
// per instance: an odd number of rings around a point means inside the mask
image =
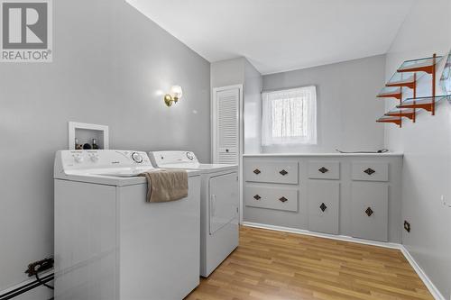
M 56 154 L 55 299 L 181 300 L 199 283 L 200 176 L 189 195 L 146 202 L 144 152 Z

